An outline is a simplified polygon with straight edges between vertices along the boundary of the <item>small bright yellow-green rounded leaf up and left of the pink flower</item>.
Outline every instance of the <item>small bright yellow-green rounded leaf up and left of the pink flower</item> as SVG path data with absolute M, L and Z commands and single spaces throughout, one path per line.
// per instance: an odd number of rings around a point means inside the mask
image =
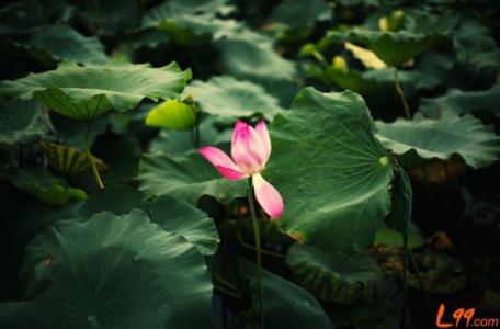
M 169 100 L 155 106 L 146 117 L 147 126 L 172 131 L 188 131 L 194 124 L 193 106 L 178 100 Z

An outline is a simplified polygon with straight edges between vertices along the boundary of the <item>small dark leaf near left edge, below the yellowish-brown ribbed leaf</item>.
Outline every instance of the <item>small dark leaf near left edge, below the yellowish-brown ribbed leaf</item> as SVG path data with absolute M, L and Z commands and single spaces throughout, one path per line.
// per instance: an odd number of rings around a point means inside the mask
M 61 178 L 43 169 L 14 169 L 9 171 L 9 181 L 33 197 L 49 204 L 66 204 L 70 200 L 86 200 L 87 193 L 69 186 Z

